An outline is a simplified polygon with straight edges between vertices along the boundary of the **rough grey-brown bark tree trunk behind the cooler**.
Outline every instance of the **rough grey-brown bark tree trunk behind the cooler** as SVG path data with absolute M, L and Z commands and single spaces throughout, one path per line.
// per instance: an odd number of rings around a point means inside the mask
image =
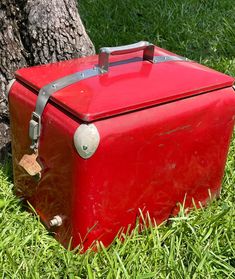
M 75 0 L 0 0 L 0 161 L 9 148 L 6 86 L 25 66 L 94 54 Z

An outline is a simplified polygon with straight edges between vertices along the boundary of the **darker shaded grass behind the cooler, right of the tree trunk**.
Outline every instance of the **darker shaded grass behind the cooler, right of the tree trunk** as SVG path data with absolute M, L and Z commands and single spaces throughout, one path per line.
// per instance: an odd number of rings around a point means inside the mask
M 80 12 L 98 50 L 147 40 L 228 74 L 235 73 L 231 0 L 86 0 Z

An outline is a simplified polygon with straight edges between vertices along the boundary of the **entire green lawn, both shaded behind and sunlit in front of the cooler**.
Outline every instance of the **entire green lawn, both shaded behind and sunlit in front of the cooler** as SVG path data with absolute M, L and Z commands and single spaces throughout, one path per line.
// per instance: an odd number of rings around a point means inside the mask
M 148 40 L 235 76 L 233 1 L 80 1 L 87 31 L 101 46 Z M 235 140 L 221 198 L 161 226 L 138 227 L 99 253 L 62 248 L 14 196 L 0 170 L 1 278 L 235 278 Z

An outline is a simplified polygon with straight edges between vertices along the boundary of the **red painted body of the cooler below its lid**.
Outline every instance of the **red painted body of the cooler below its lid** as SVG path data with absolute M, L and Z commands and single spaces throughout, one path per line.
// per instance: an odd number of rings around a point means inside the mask
M 216 90 L 164 105 L 94 122 L 100 144 L 85 160 L 73 136 L 81 122 L 47 105 L 39 157 L 39 181 L 27 175 L 19 160 L 29 153 L 28 122 L 36 95 L 16 82 L 10 112 L 14 180 L 43 222 L 55 215 L 63 223 L 56 238 L 87 248 L 105 245 L 118 231 L 135 224 L 139 209 L 161 223 L 177 203 L 205 204 L 219 195 L 233 131 L 235 93 Z

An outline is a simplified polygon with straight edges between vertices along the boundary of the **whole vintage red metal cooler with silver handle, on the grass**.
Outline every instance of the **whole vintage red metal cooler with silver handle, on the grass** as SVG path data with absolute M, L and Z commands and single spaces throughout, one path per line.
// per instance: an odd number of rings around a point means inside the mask
M 9 89 L 14 182 L 66 246 L 112 242 L 220 193 L 234 79 L 148 42 L 20 69 Z

